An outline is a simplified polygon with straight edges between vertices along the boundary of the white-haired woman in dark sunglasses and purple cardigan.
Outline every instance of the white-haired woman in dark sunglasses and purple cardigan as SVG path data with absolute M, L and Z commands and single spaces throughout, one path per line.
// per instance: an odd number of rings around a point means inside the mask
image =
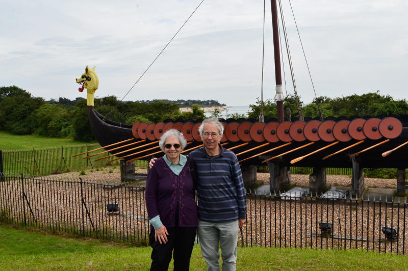
M 182 133 L 170 129 L 159 145 L 165 155 L 156 160 L 146 183 L 150 270 L 167 270 L 173 250 L 174 270 L 188 270 L 198 219 L 190 163 L 181 154 L 187 141 Z

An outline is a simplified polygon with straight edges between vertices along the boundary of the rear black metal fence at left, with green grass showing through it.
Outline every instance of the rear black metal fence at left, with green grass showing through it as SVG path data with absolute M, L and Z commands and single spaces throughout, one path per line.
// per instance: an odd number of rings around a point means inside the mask
M 98 143 L 78 146 L 61 146 L 37 149 L 0 150 L 0 172 L 20 172 L 24 174 L 50 175 L 107 165 L 118 165 L 119 161 L 111 162 L 116 157 L 95 161 L 106 155 L 99 154 L 92 159 L 85 156 L 73 157 L 100 147 Z M 92 153 L 91 153 L 92 154 Z M 136 161 L 146 166 L 146 161 Z M 139 165 L 137 164 L 137 165 Z

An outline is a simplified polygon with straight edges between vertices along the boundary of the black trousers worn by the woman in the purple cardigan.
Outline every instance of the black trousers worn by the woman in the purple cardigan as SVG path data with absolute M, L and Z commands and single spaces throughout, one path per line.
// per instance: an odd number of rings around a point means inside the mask
M 150 270 L 167 270 L 173 254 L 174 271 L 188 271 L 197 227 L 173 227 L 167 231 L 166 244 L 156 242 L 155 231 L 150 231 L 149 242 L 153 249 Z

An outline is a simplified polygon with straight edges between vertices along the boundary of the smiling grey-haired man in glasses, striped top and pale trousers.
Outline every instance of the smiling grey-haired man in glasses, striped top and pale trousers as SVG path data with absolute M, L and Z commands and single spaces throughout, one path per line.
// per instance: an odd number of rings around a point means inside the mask
M 245 188 L 238 159 L 220 140 L 224 127 L 216 118 L 199 127 L 204 147 L 193 150 L 198 175 L 198 238 L 208 270 L 235 270 L 238 229 L 246 219 Z M 152 163 L 150 162 L 150 166 Z

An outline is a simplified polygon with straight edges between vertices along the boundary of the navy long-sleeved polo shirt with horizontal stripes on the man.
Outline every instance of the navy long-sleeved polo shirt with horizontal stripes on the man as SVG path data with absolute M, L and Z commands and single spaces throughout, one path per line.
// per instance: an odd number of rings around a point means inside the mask
M 205 147 L 193 150 L 198 175 L 198 218 L 209 222 L 227 222 L 246 218 L 245 188 L 238 159 L 224 149 L 209 156 Z

